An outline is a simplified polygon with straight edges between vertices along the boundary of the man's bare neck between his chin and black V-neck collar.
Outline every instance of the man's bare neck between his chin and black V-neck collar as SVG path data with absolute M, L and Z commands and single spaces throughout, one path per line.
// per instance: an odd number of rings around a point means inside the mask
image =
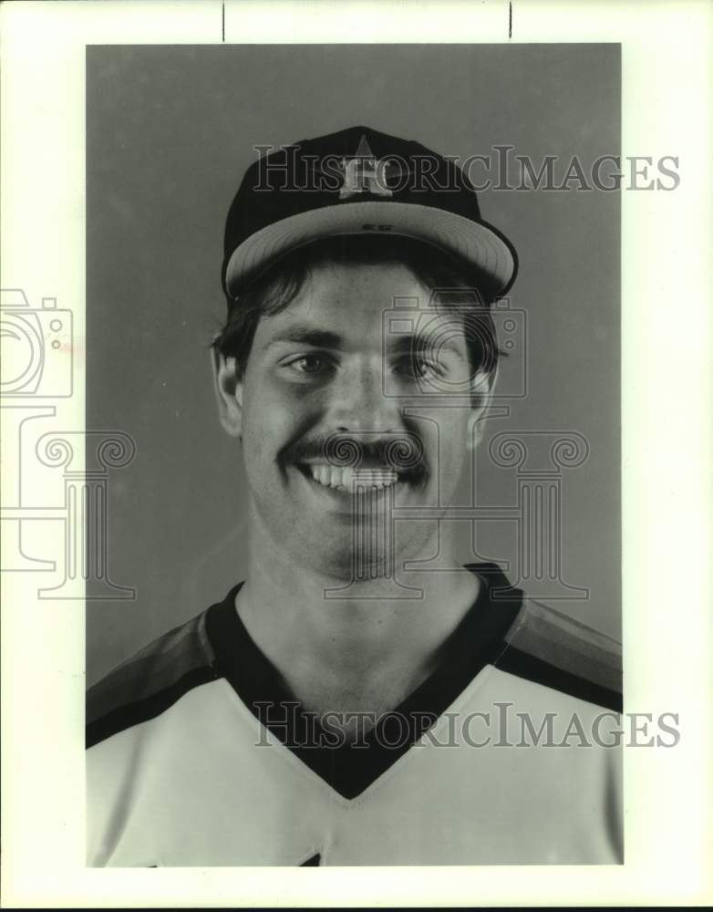
M 295 565 L 264 544 L 251 541 L 237 610 L 309 709 L 392 709 L 428 677 L 479 591 L 467 572 L 399 572 L 401 589 L 385 578 L 348 583 Z M 458 566 L 448 543 L 440 545 L 444 566 Z

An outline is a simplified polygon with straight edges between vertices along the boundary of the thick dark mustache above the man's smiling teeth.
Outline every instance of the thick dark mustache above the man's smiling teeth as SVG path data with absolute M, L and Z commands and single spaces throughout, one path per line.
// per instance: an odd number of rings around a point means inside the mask
M 359 434 L 330 434 L 326 438 L 309 437 L 295 440 L 280 454 L 283 464 L 324 460 L 337 468 L 388 468 L 410 481 L 427 474 L 423 444 L 418 435 L 409 432 L 392 434 L 374 440 Z

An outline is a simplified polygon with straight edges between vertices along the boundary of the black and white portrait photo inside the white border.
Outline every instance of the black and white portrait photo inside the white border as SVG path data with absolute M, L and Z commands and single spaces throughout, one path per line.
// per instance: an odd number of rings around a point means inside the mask
M 623 861 L 619 66 L 90 50 L 111 573 L 173 623 L 89 689 L 89 865 Z

